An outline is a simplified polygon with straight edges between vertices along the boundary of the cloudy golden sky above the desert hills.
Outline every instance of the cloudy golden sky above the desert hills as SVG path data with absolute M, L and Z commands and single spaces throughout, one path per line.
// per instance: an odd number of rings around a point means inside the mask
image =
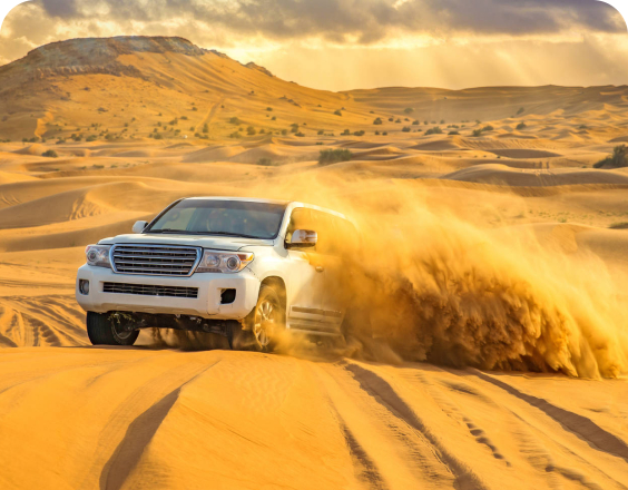
M 308 87 L 624 85 L 628 32 L 596 0 L 36 0 L 0 65 L 53 41 L 180 36 Z

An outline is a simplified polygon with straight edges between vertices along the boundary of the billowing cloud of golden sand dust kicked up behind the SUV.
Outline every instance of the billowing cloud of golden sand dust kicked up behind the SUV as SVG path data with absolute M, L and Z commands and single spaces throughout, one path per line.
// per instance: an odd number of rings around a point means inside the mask
M 297 198 L 298 189 L 302 200 L 357 225 L 334 292 L 360 312 L 347 354 L 582 378 L 626 373 L 626 281 L 592 253 L 541 244 L 529 227 L 461 218 L 399 180 L 355 192 L 328 175 L 277 187 L 266 194 Z

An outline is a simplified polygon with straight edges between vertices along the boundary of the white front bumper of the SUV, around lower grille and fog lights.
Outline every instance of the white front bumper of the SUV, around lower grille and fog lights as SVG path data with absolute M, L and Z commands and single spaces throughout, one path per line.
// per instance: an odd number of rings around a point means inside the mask
M 79 291 L 79 281 L 89 281 L 89 294 Z M 197 297 L 170 297 L 106 293 L 105 283 L 141 286 L 197 287 Z M 224 290 L 235 290 L 235 300 L 222 304 Z M 110 268 L 84 265 L 78 270 L 76 297 L 86 312 L 125 311 L 136 313 L 192 315 L 204 318 L 242 320 L 255 307 L 259 280 L 248 270 L 237 274 L 196 273 L 190 277 L 116 274 Z

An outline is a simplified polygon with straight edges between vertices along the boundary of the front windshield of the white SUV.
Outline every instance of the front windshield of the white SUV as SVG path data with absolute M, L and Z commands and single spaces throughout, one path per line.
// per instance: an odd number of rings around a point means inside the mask
M 144 233 L 272 239 L 279 233 L 285 207 L 247 200 L 185 199 L 160 215 Z

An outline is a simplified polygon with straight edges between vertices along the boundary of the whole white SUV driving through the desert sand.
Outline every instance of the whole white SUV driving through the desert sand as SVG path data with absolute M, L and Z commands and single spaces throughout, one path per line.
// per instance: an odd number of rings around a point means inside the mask
M 180 199 L 133 234 L 86 248 L 76 297 L 92 344 L 133 345 L 140 329 L 213 332 L 269 351 L 281 330 L 338 336 L 342 214 L 303 203 Z

